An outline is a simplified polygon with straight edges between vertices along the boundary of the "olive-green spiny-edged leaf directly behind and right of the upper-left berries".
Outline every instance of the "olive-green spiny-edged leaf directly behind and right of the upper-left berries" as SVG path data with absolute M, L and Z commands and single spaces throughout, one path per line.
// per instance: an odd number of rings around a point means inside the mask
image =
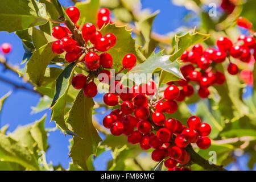
M 122 66 L 122 59 L 127 53 L 137 55 L 135 50 L 135 40 L 131 37 L 131 30 L 126 30 L 126 26 L 108 24 L 107 26 L 102 27 L 101 33 L 102 35 L 113 33 L 117 37 L 115 46 L 107 51 L 112 55 L 116 67 Z M 137 61 L 141 61 L 138 56 L 137 59 Z

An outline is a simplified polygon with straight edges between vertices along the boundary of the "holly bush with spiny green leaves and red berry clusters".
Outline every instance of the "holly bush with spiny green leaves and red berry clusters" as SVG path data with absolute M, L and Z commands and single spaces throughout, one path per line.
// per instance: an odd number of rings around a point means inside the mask
M 253 168 L 255 1 L 173 1 L 201 23 L 168 35 L 152 31 L 159 12 L 139 0 L 71 2 L 0 2 L 0 31 L 15 32 L 25 50 L 22 69 L 5 56 L 1 64 L 42 96 L 34 109 L 50 108 L 56 129 L 72 136 L 64 169 L 46 162 L 45 115 L 11 133 L 2 127 L 0 169 L 94 170 L 109 150 L 108 170 L 225 170 L 238 154 Z

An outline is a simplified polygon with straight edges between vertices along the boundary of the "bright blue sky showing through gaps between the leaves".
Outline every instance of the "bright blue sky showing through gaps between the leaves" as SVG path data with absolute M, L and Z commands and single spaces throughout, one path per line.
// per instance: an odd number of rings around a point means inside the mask
M 64 6 L 67 6 L 67 0 L 60 1 Z M 176 28 L 184 25 L 181 20 L 188 13 L 188 10 L 184 7 L 177 7 L 172 5 L 170 0 L 143 0 L 142 8 L 151 9 L 152 12 L 160 10 L 160 14 L 156 16 L 153 30 L 159 34 L 166 34 L 167 32 L 174 31 Z M 15 34 L 7 34 L 7 32 L 0 32 L 0 44 L 9 42 L 13 45 L 13 51 L 7 55 L 7 59 L 10 64 L 19 65 L 24 53 L 22 43 L 18 36 Z M 10 78 L 16 82 L 22 82 L 13 73 L 9 71 L 3 71 L 2 65 L 0 65 L 0 74 L 5 78 Z M 12 90 L 10 85 L 6 85 L 0 82 L 0 97 Z M 31 114 L 31 106 L 36 106 L 39 101 L 39 96 L 24 90 L 14 90 L 11 96 L 7 99 L 0 118 L 1 126 L 5 124 L 10 125 L 9 131 L 13 131 L 19 125 L 26 125 L 27 123 L 34 122 L 36 119 L 40 119 L 45 113 L 47 113 L 46 127 L 54 127 L 53 122 L 49 122 L 51 112 L 49 110 L 43 111 L 38 114 Z M 100 119 L 100 118 L 99 118 Z M 68 167 L 68 139 L 70 137 L 64 136 L 60 131 L 55 131 L 49 134 L 49 150 L 47 152 L 47 160 L 52 161 L 53 164 L 61 164 L 63 167 Z M 109 152 L 104 156 L 105 160 L 110 158 Z M 98 159 L 100 160 L 100 159 Z M 102 161 L 101 161 L 102 162 Z M 100 163 L 96 161 L 97 169 L 104 169 Z M 102 168 L 103 167 L 103 168 Z

